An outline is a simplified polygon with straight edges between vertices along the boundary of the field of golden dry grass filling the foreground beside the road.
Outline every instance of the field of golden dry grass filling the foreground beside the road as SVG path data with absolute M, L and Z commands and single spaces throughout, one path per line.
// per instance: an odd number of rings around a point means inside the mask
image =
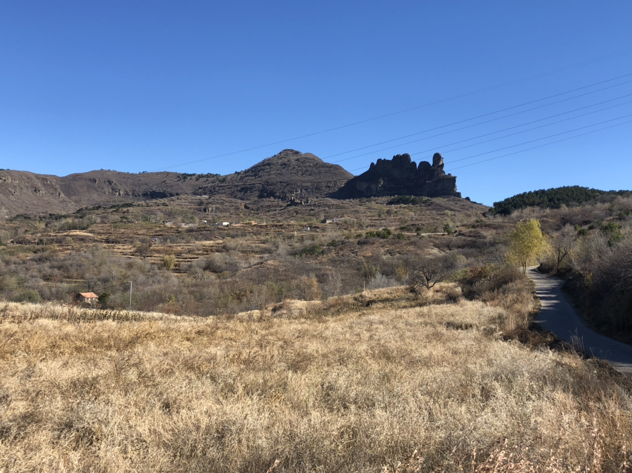
M 631 399 L 598 364 L 503 341 L 501 306 L 380 305 L 399 291 L 329 317 L 5 320 L 0 471 L 629 467 Z

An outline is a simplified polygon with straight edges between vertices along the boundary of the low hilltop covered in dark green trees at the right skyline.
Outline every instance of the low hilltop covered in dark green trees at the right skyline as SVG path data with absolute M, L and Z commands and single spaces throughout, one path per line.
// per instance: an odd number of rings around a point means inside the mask
M 629 195 L 630 191 L 602 191 L 581 186 L 563 186 L 537 191 L 523 192 L 494 202 L 490 213 L 510 215 L 525 207 L 560 208 L 562 205 L 580 204 L 604 195 Z

